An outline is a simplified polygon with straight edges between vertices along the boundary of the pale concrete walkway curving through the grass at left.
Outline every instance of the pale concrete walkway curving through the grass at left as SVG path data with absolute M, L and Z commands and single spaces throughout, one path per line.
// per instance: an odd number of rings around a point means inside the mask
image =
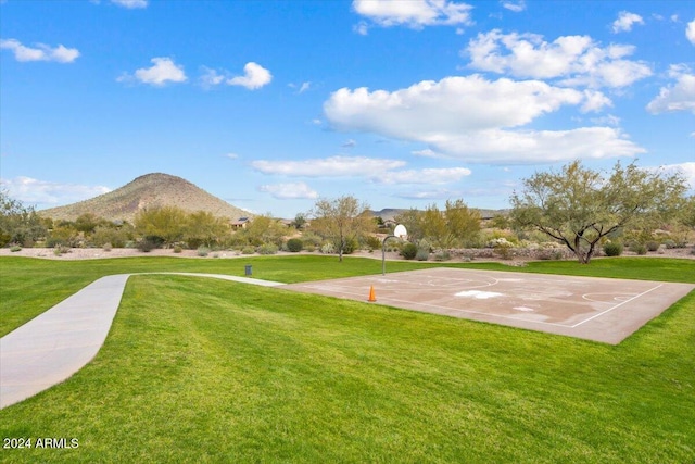
M 265 287 L 285 285 L 223 274 L 146 274 L 210 277 Z M 97 355 L 131 275 L 142 274 L 101 277 L 0 338 L 0 409 L 66 380 Z

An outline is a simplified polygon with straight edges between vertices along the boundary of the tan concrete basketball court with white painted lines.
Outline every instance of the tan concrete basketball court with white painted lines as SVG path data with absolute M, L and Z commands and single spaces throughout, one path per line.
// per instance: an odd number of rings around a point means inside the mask
M 495 271 L 428 268 L 282 289 L 617 344 L 695 285 Z

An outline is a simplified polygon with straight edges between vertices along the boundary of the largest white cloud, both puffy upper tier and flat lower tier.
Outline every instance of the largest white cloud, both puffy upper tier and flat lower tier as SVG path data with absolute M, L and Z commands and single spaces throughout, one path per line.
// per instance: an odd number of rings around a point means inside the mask
M 563 105 L 592 111 L 606 104 L 601 92 L 472 75 L 421 81 L 393 92 L 343 88 L 330 96 L 324 111 L 338 129 L 424 142 L 431 152 L 471 162 L 519 164 L 644 152 L 611 127 L 520 129 Z

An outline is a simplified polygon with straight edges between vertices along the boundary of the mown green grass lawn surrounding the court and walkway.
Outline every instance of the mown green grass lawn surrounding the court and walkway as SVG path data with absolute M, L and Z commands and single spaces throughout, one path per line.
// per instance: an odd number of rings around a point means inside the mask
M 7 333 L 96 278 L 186 271 L 302 281 L 376 274 L 323 256 L 0 259 Z M 389 271 L 421 267 L 393 262 Z M 501 268 L 496 264 L 467 267 Z M 695 262 L 523 272 L 695 281 Z M 2 462 L 695 461 L 695 292 L 619 346 L 182 276 L 132 277 L 97 359 L 0 411 Z M 36 441 L 35 441 L 36 442 Z M 4 444 L 4 443 L 3 443 Z

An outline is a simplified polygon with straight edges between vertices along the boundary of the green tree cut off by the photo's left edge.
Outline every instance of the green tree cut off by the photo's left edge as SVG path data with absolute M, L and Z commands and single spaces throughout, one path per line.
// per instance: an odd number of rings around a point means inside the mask
M 0 190 L 0 247 L 26 244 L 46 236 L 46 227 L 34 211 Z

